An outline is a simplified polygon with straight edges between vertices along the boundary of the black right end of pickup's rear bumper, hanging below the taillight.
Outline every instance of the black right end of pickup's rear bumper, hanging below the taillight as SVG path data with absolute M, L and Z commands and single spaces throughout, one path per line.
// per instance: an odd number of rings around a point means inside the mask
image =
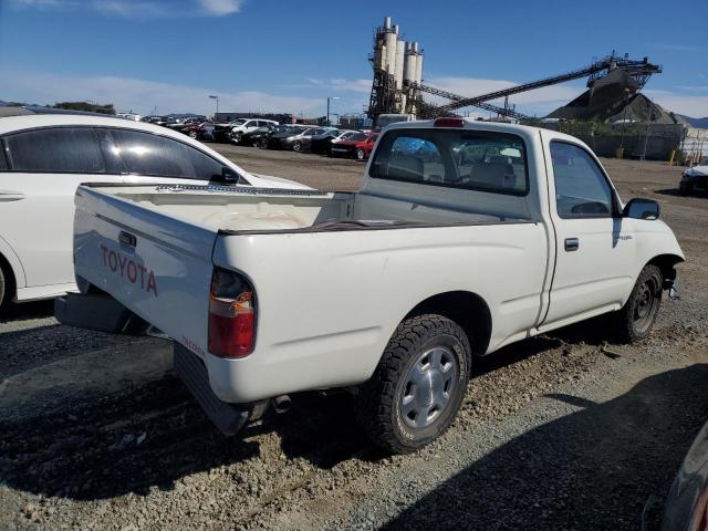
M 201 360 L 179 343 L 175 343 L 175 372 L 222 434 L 236 435 L 249 420 L 251 405 L 228 404 L 215 395 Z

